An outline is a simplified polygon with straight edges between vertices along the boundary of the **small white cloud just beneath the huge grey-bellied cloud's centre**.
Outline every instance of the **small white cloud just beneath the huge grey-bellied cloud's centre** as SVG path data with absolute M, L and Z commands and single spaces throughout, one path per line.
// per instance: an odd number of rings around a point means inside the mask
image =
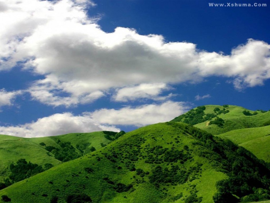
M 139 98 L 148 98 L 153 100 L 164 100 L 168 97 L 158 96 L 163 90 L 171 89 L 165 83 L 154 84 L 140 84 L 137 86 L 125 87 L 117 90 L 114 96 L 115 101 L 127 102 L 129 100 L 134 101 Z M 171 97 L 172 94 L 169 95 Z

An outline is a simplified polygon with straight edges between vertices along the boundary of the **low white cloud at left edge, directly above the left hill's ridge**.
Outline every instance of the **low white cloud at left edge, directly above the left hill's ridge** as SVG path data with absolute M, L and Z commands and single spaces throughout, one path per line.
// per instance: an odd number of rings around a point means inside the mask
M 101 130 L 120 131 L 115 126 L 97 124 L 89 116 L 75 116 L 72 113 L 57 113 L 39 118 L 36 122 L 18 126 L 0 126 L 0 134 L 19 137 L 44 137 L 71 132 L 94 132 Z

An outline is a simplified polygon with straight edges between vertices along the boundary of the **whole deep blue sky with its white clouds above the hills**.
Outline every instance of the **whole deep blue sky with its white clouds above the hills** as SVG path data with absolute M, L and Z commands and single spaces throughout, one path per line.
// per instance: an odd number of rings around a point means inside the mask
M 130 131 L 207 104 L 269 110 L 269 15 L 269 1 L 0 0 L 0 133 Z

